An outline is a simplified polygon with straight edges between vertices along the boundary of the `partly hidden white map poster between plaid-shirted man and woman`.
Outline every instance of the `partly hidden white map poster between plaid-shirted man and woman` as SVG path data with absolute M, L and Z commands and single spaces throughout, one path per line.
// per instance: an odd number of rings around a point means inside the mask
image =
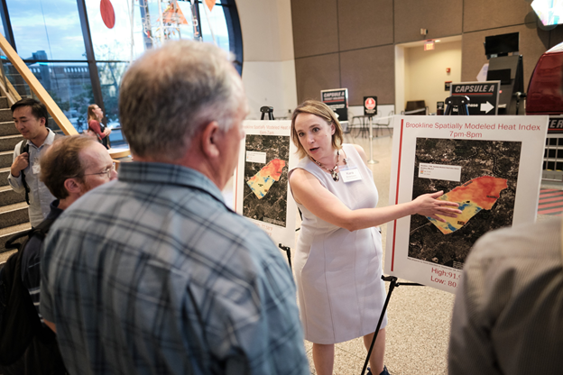
M 276 244 L 295 247 L 297 206 L 288 171 L 297 165 L 291 121 L 245 121 L 235 169 L 236 213 L 245 216 Z

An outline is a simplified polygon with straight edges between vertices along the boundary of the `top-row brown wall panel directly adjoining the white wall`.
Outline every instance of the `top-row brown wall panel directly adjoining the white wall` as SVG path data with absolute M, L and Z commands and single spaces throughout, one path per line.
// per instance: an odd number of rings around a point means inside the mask
M 295 58 L 338 51 L 337 0 L 291 0 Z

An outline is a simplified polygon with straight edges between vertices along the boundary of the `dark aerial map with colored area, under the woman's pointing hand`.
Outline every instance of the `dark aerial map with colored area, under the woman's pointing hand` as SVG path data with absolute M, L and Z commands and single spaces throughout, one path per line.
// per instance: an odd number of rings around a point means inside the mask
M 461 269 L 485 233 L 512 225 L 521 142 L 417 138 L 412 199 L 443 190 L 456 218 L 411 215 L 409 259 Z M 461 168 L 458 180 L 419 177 L 420 163 Z

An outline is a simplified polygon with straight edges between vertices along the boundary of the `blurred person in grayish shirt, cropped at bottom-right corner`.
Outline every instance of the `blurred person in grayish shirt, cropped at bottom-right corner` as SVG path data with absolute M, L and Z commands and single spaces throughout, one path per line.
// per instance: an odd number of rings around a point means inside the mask
M 558 374 L 563 369 L 561 218 L 487 233 L 458 286 L 449 374 Z

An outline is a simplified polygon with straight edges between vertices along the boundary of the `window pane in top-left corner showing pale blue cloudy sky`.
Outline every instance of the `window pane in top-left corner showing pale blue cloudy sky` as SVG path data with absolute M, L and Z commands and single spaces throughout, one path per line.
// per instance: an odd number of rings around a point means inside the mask
M 22 59 L 86 59 L 76 0 L 6 0 Z

